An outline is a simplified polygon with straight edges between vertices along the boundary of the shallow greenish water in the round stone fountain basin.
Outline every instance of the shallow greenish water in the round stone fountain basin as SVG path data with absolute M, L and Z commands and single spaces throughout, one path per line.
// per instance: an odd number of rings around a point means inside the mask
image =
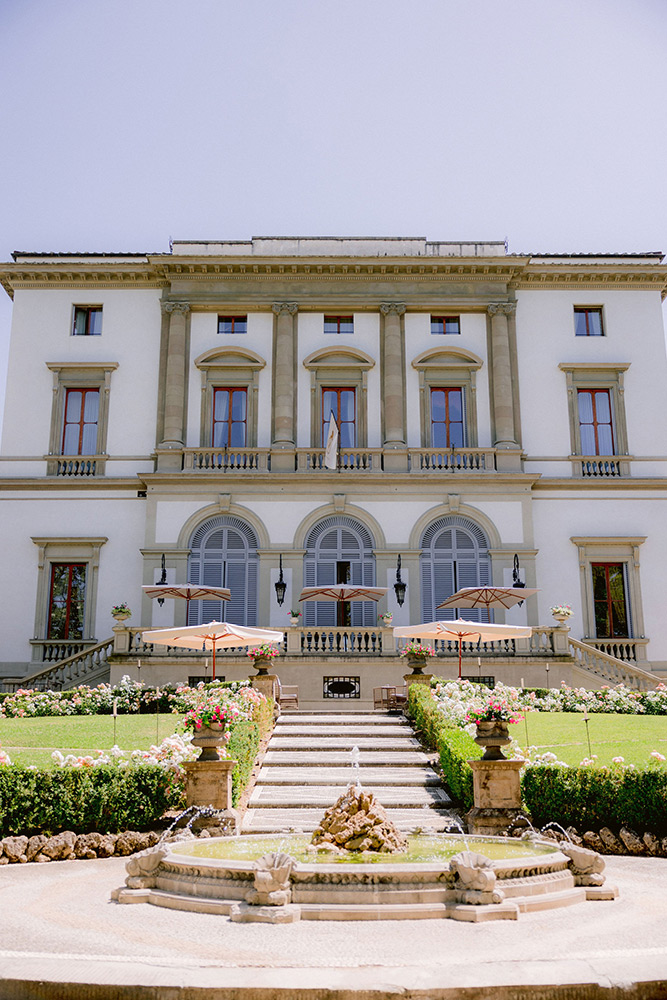
M 220 837 L 211 840 L 188 841 L 172 845 L 172 854 L 187 858 L 210 858 L 225 861 L 256 861 L 264 854 L 284 851 L 297 861 L 306 864 L 428 864 L 448 861 L 461 851 L 471 850 L 483 854 L 491 861 L 510 861 L 514 858 L 529 858 L 541 854 L 553 854 L 558 850 L 546 844 L 530 841 L 500 840 L 488 837 L 452 836 L 451 834 L 411 834 L 408 849 L 400 854 L 380 854 L 374 851 L 332 854 L 328 851 L 309 850 L 308 834 L 276 834 L 275 836 Z M 467 841 L 467 845 L 466 845 Z

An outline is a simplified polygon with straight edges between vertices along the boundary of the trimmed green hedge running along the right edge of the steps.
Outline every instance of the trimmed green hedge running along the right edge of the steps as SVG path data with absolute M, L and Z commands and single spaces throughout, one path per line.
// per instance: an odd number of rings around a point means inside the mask
M 408 715 L 423 742 L 438 751 L 442 775 L 451 794 L 465 809 L 472 809 L 472 768 L 468 761 L 479 760 L 480 747 L 463 729 L 448 725 L 425 684 L 410 685 Z

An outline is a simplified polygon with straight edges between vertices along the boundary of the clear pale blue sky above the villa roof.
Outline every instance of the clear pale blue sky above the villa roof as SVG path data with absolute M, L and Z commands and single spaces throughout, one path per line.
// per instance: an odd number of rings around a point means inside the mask
M 666 38 L 665 0 L 0 0 L 0 259 L 667 250 Z

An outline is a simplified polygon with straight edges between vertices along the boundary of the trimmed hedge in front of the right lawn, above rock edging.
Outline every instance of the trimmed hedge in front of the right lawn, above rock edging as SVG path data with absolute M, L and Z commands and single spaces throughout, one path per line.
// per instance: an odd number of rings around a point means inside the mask
M 532 822 L 557 822 L 577 830 L 622 826 L 667 834 L 667 771 L 651 768 L 527 767 L 523 799 Z

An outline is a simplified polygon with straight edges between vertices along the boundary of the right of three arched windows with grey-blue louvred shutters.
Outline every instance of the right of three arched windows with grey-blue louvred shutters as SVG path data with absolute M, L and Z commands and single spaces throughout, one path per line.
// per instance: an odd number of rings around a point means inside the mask
M 486 535 L 474 521 L 452 515 L 431 524 L 421 539 L 422 621 L 489 621 L 489 613 L 472 608 L 437 605 L 461 587 L 484 587 L 491 581 Z

